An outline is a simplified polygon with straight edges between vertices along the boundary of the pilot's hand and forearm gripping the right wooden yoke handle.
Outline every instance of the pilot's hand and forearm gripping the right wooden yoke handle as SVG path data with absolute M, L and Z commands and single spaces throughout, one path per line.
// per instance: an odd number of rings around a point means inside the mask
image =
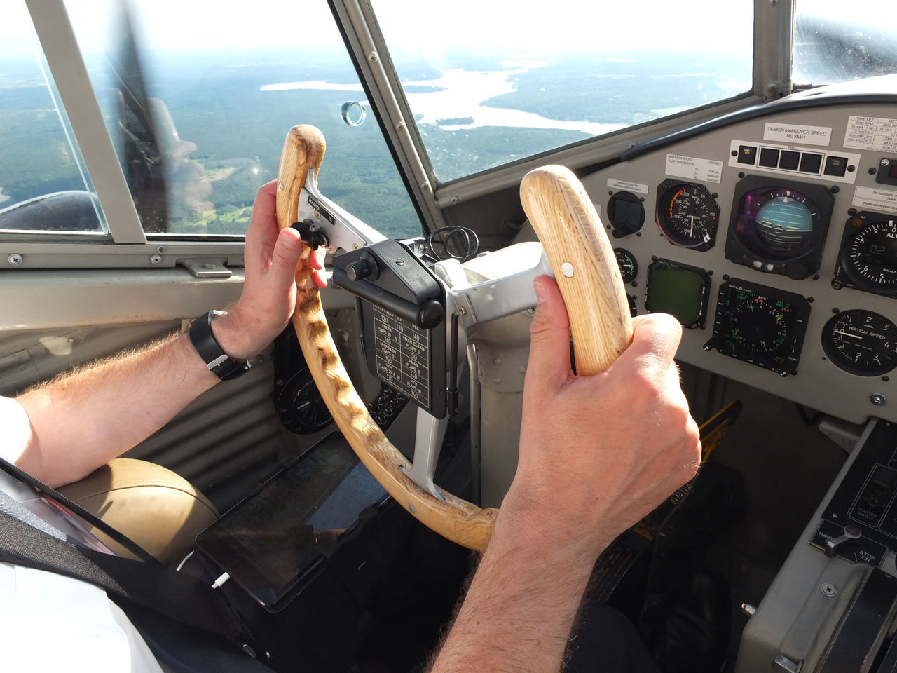
M 597 556 L 701 457 L 673 362 L 675 319 L 635 320 L 613 364 L 576 376 L 560 290 L 544 276 L 534 289 L 517 474 L 438 673 L 558 670 Z

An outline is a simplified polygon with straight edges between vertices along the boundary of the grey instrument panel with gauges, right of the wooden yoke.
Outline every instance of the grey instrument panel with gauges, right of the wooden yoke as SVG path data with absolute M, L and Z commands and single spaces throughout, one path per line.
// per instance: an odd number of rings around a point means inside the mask
M 636 313 L 678 358 L 852 423 L 897 421 L 897 105 L 777 110 L 583 178 Z

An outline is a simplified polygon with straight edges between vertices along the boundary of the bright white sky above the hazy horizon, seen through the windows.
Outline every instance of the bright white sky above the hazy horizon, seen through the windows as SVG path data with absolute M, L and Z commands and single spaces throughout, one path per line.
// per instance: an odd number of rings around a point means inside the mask
M 666 16 L 671 7 L 668 0 L 552 0 L 550 11 L 546 11 L 544 0 L 450 0 L 442 4 L 447 10 L 443 13 L 426 11 L 427 20 L 413 9 L 420 4 L 408 0 L 372 0 L 372 4 L 390 43 L 401 39 L 407 48 L 427 51 L 450 41 L 460 48 L 527 53 L 570 45 L 680 48 L 683 45 L 678 40 L 687 31 L 710 31 L 710 26 L 719 22 L 720 1 L 691 0 L 689 16 L 682 25 L 675 25 L 681 9 Z M 751 24 L 753 0 L 726 1 L 732 3 L 727 7 L 727 22 Z M 120 0 L 65 0 L 83 45 L 100 46 L 106 41 L 106 19 L 118 4 Z M 208 53 L 297 42 L 315 48 L 341 45 L 324 0 L 133 0 L 131 4 L 138 22 L 144 25 L 144 43 L 149 48 Z M 739 11 L 743 14 L 740 19 Z M 650 16 L 657 16 L 658 21 L 645 21 Z M 674 19 L 672 26 L 670 19 Z M 24 0 L 0 3 L 0 54 L 30 48 L 28 36 L 22 34 L 27 22 Z M 729 41 L 717 40 L 718 48 Z

